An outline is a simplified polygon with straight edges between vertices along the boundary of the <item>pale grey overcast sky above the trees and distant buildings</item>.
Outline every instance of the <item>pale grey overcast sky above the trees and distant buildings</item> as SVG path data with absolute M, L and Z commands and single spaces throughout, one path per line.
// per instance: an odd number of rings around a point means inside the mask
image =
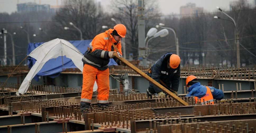
M 0 12 L 12 13 L 17 11 L 17 2 L 25 3 L 25 2 L 36 2 L 39 3 L 39 0 L 0 0 Z M 57 5 L 61 4 L 62 0 L 41 0 L 41 4 L 50 4 Z M 104 9 L 111 9 L 108 6 L 111 5 L 111 0 L 95 0 L 100 1 L 103 5 Z M 197 7 L 203 7 L 204 11 L 213 12 L 216 10 L 216 6 L 223 8 L 224 10 L 229 10 L 229 2 L 237 1 L 237 0 L 157 0 L 159 3 L 159 7 L 164 15 L 166 14 L 179 14 L 180 6 L 184 6 L 186 3 L 195 3 Z M 248 0 L 250 4 L 253 3 L 254 0 Z M 115 3 L 118 4 L 118 3 Z M 106 8 L 107 7 L 107 8 Z

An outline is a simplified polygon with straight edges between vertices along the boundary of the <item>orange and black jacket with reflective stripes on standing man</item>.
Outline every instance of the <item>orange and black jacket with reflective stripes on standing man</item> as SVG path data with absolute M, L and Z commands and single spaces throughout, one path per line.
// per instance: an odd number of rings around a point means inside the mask
M 115 44 L 120 54 L 122 54 L 121 51 L 121 42 L 117 42 L 113 37 L 114 29 L 108 29 L 107 31 L 98 34 L 94 37 L 92 42 L 90 43 L 90 51 L 86 51 L 84 53 L 84 57 L 82 59 L 84 64 L 92 65 L 95 68 L 98 68 L 100 70 L 106 70 L 108 68 L 109 63 L 109 51 L 116 51 L 111 41 Z M 108 32 L 110 35 L 110 39 L 108 38 Z M 120 60 L 118 60 L 116 57 L 113 58 L 118 65 L 120 65 Z

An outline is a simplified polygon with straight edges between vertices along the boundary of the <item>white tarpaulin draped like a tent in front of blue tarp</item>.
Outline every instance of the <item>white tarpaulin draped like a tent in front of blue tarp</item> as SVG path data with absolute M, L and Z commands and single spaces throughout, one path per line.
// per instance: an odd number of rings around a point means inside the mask
M 31 80 L 35 77 L 35 75 L 42 69 L 43 65 L 49 60 L 53 58 L 57 58 L 59 56 L 66 56 L 67 58 L 70 58 L 76 67 L 83 72 L 83 54 L 70 42 L 63 40 L 63 39 L 54 39 L 48 42 L 45 42 L 44 44 L 38 46 L 36 49 L 34 49 L 30 54 L 30 57 L 36 59 L 35 64 L 30 69 L 28 75 L 25 77 L 23 82 L 21 83 L 21 86 L 16 92 L 17 96 L 20 96 L 20 94 L 24 94 L 27 92 L 29 88 L 29 84 Z M 97 84 L 94 83 L 93 91 L 97 90 Z

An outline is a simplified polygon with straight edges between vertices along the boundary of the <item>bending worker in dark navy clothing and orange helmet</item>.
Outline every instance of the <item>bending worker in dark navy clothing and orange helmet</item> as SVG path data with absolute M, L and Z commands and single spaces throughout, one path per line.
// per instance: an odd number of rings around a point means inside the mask
M 149 68 L 147 75 L 177 95 L 180 83 L 180 57 L 172 53 L 164 54 Z M 155 93 L 159 97 L 165 97 L 161 89 L 149 82 L 147 96 L 151 97 Z

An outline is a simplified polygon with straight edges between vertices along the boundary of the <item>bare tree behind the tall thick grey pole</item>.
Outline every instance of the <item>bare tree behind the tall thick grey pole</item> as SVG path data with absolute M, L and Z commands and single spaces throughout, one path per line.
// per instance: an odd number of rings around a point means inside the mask
M 138 1 L 137 0 L 112 0 L 111 3 L 118 3 L 113 9 L 113 18 L 124 24 L 127 28 L 126 46 L 127 52 L 138 56 Z M 154 0 L 144 0 L 145 27 L 155 26 L 160 12 L 158 4 Z

